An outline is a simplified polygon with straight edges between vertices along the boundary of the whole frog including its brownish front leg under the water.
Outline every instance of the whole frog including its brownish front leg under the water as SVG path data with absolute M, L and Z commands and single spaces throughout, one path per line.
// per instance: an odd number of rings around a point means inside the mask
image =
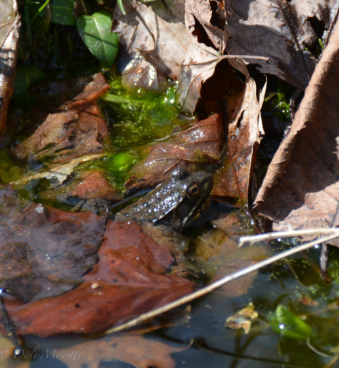
M 213 175 L 206 171 L 175 169 L 153 191 L 118 212 L 114 220 L 138 223 L 145 234 L 171 250 L 174 262 L 170 273 L 197 279 L 199 270 L 185 257 L 189 239 L 181 231 L 208 211 L 213 184 Z

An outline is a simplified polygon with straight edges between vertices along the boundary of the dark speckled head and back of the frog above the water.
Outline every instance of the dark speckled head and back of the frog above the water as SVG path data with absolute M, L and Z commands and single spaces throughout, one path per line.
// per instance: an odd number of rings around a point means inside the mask
M 213 184 L 213 176 L 206 171 L 190 174 L 176 169 L 164 183 L 118 212 L 115 220 L 164 224 L 182 230 L 206 204 Z

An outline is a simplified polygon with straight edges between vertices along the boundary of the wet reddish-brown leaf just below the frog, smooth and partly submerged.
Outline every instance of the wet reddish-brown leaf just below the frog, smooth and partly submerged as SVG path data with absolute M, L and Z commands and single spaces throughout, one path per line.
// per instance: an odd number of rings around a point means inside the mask
M 189 280 L 165 274 L 171 252 L 134 222 L 110 221 L 98 255 L 76 289 L 26 304 L 6 301 L 18 333 L 98 333 L 193 291 Z

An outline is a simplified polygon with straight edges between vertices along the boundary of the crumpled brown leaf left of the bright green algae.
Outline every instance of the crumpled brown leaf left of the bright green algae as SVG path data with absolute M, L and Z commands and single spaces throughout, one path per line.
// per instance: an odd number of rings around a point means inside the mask
M 103 75 L 95 74 L 82 93 L 62 105 L 60 112 L 49 114 L 35 133 L 18 145 L 17 156 L 25 160 L 52 156 L 54 163 L 68 163 L 102 152 L 109 132 L 95 100 L 107 89 Z

